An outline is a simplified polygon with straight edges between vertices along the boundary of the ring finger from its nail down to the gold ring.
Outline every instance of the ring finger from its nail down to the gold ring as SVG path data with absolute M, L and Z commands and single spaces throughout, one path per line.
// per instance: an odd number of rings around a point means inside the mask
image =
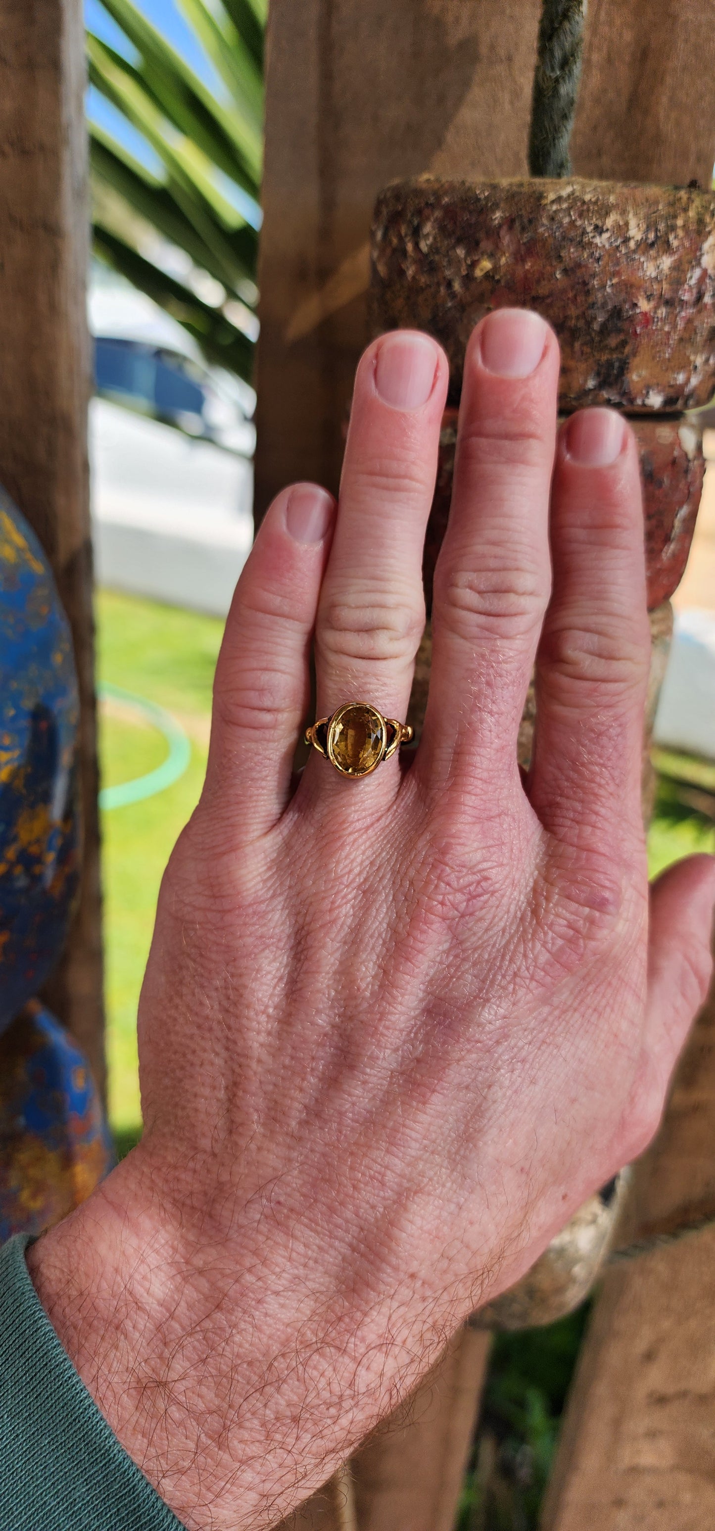
M 429 335 L 393 331 L 360 361 L 315 625 L 318 717 L 369 701 L 404 720 L 446 393 L 447 358 Z

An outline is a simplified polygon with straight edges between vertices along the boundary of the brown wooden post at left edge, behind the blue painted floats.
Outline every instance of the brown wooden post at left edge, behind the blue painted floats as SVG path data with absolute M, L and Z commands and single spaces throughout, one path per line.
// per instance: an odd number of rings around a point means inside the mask
M 87 482 L 87 156 L 81 0 L 0 14 L 0 482 L 37 531 L 81 694 L 83 890 L 47 1000 L 100 1085 L 103 965 Z

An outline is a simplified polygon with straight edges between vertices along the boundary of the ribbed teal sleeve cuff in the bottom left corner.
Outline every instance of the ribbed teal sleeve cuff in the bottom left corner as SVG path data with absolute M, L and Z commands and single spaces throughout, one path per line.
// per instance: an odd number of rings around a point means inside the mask
M 182 1531 L 63 1350 L 28 1243 L 0 1249 L 0 1531 Z

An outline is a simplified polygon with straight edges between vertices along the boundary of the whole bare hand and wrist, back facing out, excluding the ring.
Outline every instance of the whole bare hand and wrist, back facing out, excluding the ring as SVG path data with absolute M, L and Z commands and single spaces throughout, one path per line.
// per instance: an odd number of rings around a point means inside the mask
M 557 374 L 534 314 L 470 340 L 407 769 L 352 782 L 314 752 L 291 781 L 314 632 L 318 717 L 406 715 L 432 340 L 367 349 L 340 508 L 279 495 L 236 591 L 141 998 L 144 1138 L 29 1257 L 191 1531 L 305 1499 L 640 1153 L 706 992 L 709 857 L 660 880 L 648 935 L 637 450 L 609 410 L 556 441 Z

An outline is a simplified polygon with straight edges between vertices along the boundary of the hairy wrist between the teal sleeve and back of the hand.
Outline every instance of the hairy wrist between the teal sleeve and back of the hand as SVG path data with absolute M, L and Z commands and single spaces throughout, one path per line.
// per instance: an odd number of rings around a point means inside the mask
M 28 1252 L 64 1349 L 115 1435 L 190 1528 L 263 1528 L 318 1487 L 442 1341 L 338 1292 L 341 1255 L 289 1258 L 246 1226 L 205 1254 L 162 1216 L 141 1154 Z M 205 1257 L 204 1257 L 205 1255 Z M 332 1266 L 332 1277 L 331 1277 Z M 371 1283 L 372 1285 L 372 1283 Z M 412 1294 L 413 1295 L 413 1294 Z M 389 1307 L 389 1315 L 387 1315 Z M 412 1349 L 412 1353 L 410 1353 Z

